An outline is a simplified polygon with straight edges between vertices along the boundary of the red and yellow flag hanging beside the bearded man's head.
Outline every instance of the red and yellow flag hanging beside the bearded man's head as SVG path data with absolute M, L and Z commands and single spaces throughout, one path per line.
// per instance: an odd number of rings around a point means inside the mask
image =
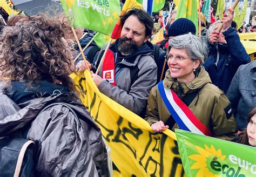
M 142 4 L 138 3 L 136 0 L 126 0 L 123 6 L 122 11 L 120 12 L 120 16 L 124 15 L 127 10 L 129 10 L 132 7 L 139 7 L 142 8 Z M 118 39 L 121 36 L 121 31 L 122 31 L 122 26 L 121 26 L 121 21 L 120 17 L 117 20 L 116 25 L 114 25 L 114 29 L 111 35 L 112 39 Z

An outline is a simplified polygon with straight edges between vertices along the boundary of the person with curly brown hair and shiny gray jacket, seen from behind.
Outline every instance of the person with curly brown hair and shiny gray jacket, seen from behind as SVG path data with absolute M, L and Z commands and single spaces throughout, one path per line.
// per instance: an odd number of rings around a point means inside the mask
M 70 28 L 66 18 L 41 14 L 3 30 L 0 137 L 23 132 L 35 142 L 35 176 L 108 176 L 102 134 L 69 77 Z

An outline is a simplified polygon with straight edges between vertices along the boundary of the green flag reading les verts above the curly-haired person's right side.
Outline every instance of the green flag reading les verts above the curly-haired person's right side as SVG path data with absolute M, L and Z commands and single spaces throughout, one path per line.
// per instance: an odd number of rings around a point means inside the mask
M 61 0 L 66 16 L 75 28 L 87 28 L 111 35 L 120 13 L 118 0 Z

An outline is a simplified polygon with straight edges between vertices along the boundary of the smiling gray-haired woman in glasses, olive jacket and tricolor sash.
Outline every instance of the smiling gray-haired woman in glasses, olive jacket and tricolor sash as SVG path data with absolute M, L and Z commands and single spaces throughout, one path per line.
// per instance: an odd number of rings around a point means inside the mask
M 145 120 L 154 132 L 170 127 L 225 140 L 235 137 L 230 101 L 202 66 L 207 52 L 207 45 L 191 33 L 172 38 L 169 70 L 147 100 Z

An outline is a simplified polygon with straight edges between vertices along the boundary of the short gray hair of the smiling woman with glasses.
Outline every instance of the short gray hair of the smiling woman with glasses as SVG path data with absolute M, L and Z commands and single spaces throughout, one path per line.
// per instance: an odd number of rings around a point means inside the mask
M 204 60 L 208 55 L 207 44 L 200 37 L 192 35 L 191 32 L 173 37 L 169 44 L 176 49 L 185 49 L 192 60 L 199 59 L 201 64 L 204 64 Z

